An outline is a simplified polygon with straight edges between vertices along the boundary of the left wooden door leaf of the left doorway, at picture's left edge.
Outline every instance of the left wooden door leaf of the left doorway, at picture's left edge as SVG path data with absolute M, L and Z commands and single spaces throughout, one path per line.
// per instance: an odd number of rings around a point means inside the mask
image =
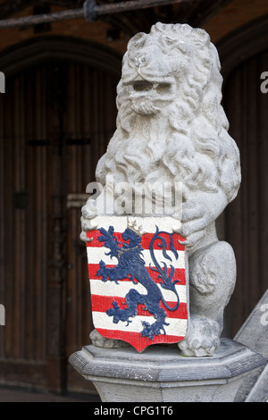
M 8 94 L 0 97 L 0 265 L 6 315 L 0 381 L 23 382 L 25 374 L 30 384 L 41 386 L 46 385 L 47 150 L 31 147 L 29 139 L 46 135 L 41 118 L 46 116 L 46 87 L 38 82 L 43 71 L 9 80 Z

